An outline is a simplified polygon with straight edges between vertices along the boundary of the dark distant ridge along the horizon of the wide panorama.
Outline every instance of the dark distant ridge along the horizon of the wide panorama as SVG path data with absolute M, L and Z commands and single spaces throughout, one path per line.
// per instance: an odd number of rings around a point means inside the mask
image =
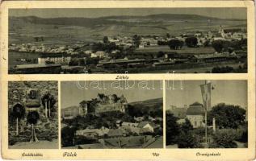
M 134 21 L 136 19 L 136 21 Z M 218 21 L 244 21 L 239 19 L 217 19 L 207 16 L 201 16 L 196 14 L 150 14 L 146 16 L 106 16 L 106 17 L 99 17 L 99 18 L 39 18 L 36 16 L 27 16 L 27 17 L 10 17 L 9 21 L 11 23 L 21 22 L 24 23 L 34 23 L 34 24 L 54 24 L 54 25 L 69 25 L 69 26 L 83 26 L 83 27 L 94 27 L 97 25 L 103 24 L 120 24 L 120 20 L 122 21 L 123 25 L 131 25 L 131 23 L 154 23 L 154 22 L 161 22 L 161 21 L 208 21 L 208 20 L 218 20 Z M 125 23 L 129 20 L 128 23 Z M 132 21 L 133 20 L 133 21 Z M 163 22 L 165 23 L 165 22 Z

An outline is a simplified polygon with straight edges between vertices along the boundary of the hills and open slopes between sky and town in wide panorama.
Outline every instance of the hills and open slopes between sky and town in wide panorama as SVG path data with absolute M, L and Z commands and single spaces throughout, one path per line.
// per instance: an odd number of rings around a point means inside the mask
M 99 18 L 10 17 L 10 43 L 33 43 L 44 36 L 44 43 L 94 42 L 104 35 L 179 35 L 191 31 L 218 30 L 218 27 L 246 27 L 246 20 L 216 19 L 195 14 L 151 14 L 146 16 L 106 16 Z

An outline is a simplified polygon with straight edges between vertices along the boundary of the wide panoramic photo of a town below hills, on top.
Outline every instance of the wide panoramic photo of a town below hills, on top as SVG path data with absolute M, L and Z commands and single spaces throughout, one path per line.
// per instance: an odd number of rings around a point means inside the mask
M 246 73 L 246 8 L 10 9 L 10 74 Z

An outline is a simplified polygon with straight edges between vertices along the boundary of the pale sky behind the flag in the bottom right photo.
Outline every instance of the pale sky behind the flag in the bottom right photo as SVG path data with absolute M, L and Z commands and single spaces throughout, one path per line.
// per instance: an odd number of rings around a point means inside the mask
M 247 81 L 211 81 L 214 89 L 211 91 L 212 106 L 224 102 L 225 104 L 241 105 L 247 107 Z M 203 104 L 201 89 L 199 85 L 204 81 L 183 81 L 183 90 L 180 81 L 174 82 L 175 89 L 166 89 L 166 109 L 170 105 L 183 107 L 191 105 L 195 101 Z M 170 87 L 172 82 L 170 82 Z

